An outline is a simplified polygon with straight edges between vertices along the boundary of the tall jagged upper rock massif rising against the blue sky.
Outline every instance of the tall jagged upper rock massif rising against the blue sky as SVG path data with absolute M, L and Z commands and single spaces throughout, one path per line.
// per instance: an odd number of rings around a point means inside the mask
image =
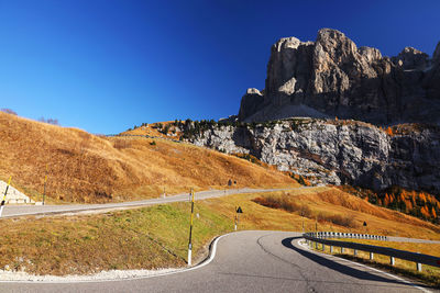
M 432 59 L 406 47 L 383 57 L 356 47 L 343 33 L 322 29 L 316 42 L 296 37 L 272 46 L 265 89 L 248 91 L 239 119 L 342 117 L 376 124 L 440 124 L 440 47 Z

